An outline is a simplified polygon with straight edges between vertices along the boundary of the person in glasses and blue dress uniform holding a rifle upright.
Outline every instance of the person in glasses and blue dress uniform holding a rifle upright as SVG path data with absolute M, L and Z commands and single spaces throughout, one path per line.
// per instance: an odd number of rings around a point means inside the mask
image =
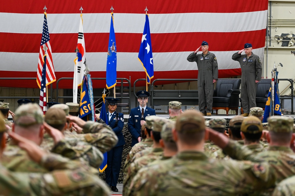
M 146 116 L 156 115 L 156 112 L 154 109 L 146 106 L 146 103 L 148 102 L 148 99 L 149 99 L 149 92 L 145 90 L 141 90 L 136 93 L 136 96 L 138 97 L 137 101 L 139 103 L 139 106 L 131 109 L 129 120 L 128 120 L 128 131 L 132 135 L 131 146 L 134 146 L 135 144 L 141 141 L 140 130 L 141 130 L 141 125 L 145 123 Z M 144 113 L 143 120 L 141 120 L 142 110 Z

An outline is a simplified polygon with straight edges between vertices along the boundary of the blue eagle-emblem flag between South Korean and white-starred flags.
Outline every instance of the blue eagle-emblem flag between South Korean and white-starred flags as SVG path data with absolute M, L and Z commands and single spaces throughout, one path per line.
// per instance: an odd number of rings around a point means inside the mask
M 107 89 L 113 88 L 117 83 L 117 46 L 114 30 L 114 13 L 112 12 L 109 45 L 107 48 Z

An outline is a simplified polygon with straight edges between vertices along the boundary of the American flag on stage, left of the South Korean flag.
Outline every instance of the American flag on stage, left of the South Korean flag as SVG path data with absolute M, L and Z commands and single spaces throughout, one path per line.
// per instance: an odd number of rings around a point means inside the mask
M 38 60 L 38 70 L 37 70 L 37 84 L 39 88 L 41 89 L 41 79 L 42 79 L 42 73 L 43 73 L 43 57 L 45 55 L 44 51 L 44 46 L 46 46 L 48 49 L 46 50 L 47 53 L 47 58 L 44 58 L 46 62 L 44 63 L 47 64 L 46 67 L 46 86 L 48 84 L 53 83 L 56 81 L 55 73 L 54 73 L 54 67 L 53 67 L 53 60 L 52 60 L 52 55 L 51 55 L 51 46 L 50 46 L 50 37 L 49 37 L 49 30 L 48 30 L 48 25 L 47 25 L 47 14 L 44 12 L 44 22 L 43 22 L 43 32 L 42 32 L 42 39 L 41 39 L 41 44 L 40 44 L 40 54 L 39 54 L 39 60 Z

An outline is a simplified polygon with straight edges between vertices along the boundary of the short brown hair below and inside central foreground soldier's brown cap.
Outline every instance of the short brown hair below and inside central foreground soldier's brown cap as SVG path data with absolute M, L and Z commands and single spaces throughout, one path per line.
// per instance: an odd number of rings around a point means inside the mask
M 182 126 L 182 130 L 194 130 L 199 129 L 199 126 L 193 123 L 187 123 Z M 200 143 L 205 136 L 205 130 L 198 132 L 182 132 L 177 131 L 178 138 L 181 142 L 186 143 L 188 145 L 195 145 Z

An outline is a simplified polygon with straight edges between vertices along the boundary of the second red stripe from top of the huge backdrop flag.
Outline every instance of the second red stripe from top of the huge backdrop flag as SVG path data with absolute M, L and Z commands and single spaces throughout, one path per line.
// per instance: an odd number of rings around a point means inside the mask
M 141 33 L 115 33 L 118 52 L 138 53 Z M 50 34 L 52 52 L 74 53 L 78 33 Z M 106 52 L 109 33 L 84 33 L 87 52 Z M 0 52 L 37 53 L 40 34 L 0 33 Z M 188 38 L 194 39 L 188 39 Z M 245 43 L 252 43 L 253 48 L 265 46 L 265 29 L 245 32 L 188 32 L 151 34 L 153 52 L 195 51 L 203 39 L 209 43 L 210 51 L 241 50 Z M 228 39 L 230 38 L 230 39 Z M 18 47 L 11 40 L 22 40 Z M 48 51 L 51 55 L 51 52 Z M 42 56 L 43 58 L 43 56 Z M 42 60 L 41 60 L 42 61 Z

